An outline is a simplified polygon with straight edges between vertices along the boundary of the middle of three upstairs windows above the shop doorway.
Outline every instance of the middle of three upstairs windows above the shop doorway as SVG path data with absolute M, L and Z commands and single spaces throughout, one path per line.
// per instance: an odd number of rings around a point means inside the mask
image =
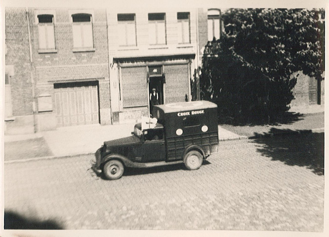
M 165 44 L 165 13 L 149 13 L 149 43 Z

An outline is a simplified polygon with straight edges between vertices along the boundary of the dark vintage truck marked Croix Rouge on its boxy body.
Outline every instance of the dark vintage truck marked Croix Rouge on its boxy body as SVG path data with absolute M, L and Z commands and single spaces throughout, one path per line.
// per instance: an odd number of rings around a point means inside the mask
M 217 152 L 216 104 L 193 101 L 158 105 L 153 115 L 135 124 L 132 136 L 104 142 L 95 153 L 93 170 L 110 180 L 121 178 L 125 167 L 184 163 L 194 170 Z

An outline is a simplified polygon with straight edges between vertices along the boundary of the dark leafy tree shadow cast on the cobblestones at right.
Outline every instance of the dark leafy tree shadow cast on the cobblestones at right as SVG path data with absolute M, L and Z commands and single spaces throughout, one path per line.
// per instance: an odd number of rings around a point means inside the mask
M 305 134 L 292 135 L 289 129 L 272 128 L 268 134 L 261 134 L 263 137 L 254 138 L 252 142 L 259 144 L 257 151 L 265 157 L 280 160 L 287 165 L 306 166 L 313 173 L 324 175 L 325 133 L 312 133 L 310 130 L 293 132 Z M 272 133 L 280 135 L 272 137 Z M 257 135 L 255 133 L 255 137 Z

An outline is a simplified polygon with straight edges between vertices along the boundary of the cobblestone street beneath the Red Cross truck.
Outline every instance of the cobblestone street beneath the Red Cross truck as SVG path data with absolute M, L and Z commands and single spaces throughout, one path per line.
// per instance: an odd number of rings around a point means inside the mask
M 5 164 L 5 212 L 62 229 L 322 232 L 324 133 L 219 143 L 184 165 L 97 177 L 93 156 Z

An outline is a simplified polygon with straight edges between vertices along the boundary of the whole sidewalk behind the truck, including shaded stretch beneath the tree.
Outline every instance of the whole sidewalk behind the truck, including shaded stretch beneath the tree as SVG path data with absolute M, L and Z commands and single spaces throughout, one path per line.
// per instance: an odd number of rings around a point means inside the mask
M 271 134 L 278 131 L 293 133 L 296 130 L 324 129 L 324 106 L 302 109 L 292 108 L 291 112 L 303 115 L 298 115 L 291 123 L 278 126 L 220 125 L 218 138 L 220 141 L 238 140 L 250 138 L 255 134 Z M 314 121 L 314 116 L 317 116 L 317 121 Z M 4 136 L 4 160 L 12 162 L 93 154 L 104 141 L 130 136 L 133 127 L 134 123 L 102 126 L 93 124 L 60 127 L 53 131 L 35 134 Z

